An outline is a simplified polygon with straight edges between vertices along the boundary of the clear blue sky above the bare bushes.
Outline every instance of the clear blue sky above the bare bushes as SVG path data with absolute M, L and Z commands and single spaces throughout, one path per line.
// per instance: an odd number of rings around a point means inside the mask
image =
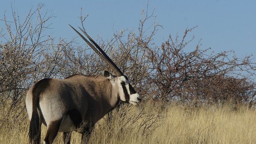
M 0 19 L 11 15 L 11 3 L 24 19 L 31 6 L 34 8 L 40 1 L 37 0 L 1 0 Z M 56 18 L 50 20 L 52 28 L 48 34 L 55 38 L 71 39 L 77 34 L 68 26 L 80 26 L 78 16 L 80 7 L 83 14 L 89 14 L 85 28 L 89 35 L 100 35 L 103 40 L 113 36 L 113 31 L 138 28 L 141 9 L 146 9 L 147 0 L 45 0 L 43 10 L 53 10 Z M 254 0 L 159 0 L 149 1 L 148 9 L 152 11 L 156 6 L 156 21 L 164 27 L 159 29 L 154 37 L 156 45 L 161 45 L 168 39 L 169 34 L 182 36 L 188 27 L 198 25 L 190 33 L 195 40 L 187 49 L 194 49 L 199 39 L 201 49 L 212 48 L 212 51 L 234 50 L 237 57 L 254 54 L 256 62 L 256 1 Z M 4 27 L 0 21 L 0 28 Z M 81 41 L 82 42 L 82 41 Z

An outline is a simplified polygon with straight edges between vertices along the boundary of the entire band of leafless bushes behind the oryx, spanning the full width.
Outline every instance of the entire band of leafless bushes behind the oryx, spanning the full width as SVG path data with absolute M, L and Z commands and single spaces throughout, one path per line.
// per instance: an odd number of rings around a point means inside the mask
M 15 11 L 13 22 L 6 16 L 2 20 L 6 34 L 1 30 L 0 37 L 5 39 L 0 48 L 1 103 L 13 107 L 20 104 L 27 89 L 42 78 L 65 78 L 77 73 L 97 75 L 107 68 L 87 45 L 77 44 L 75 38 L 59 39 L 57 43 L 51 36 L 43 35 L 50 28 L 53 15 L 51 11 L 42 13 L 41 9 L 42 4 L 31 9 L 24 20 Z M 144 100 L 178 100 L 195 105 L 255 101 L 252 55 L 239 59 L 233 51 L 214 54 L 210 49 L 199 49 L 200 42 L 188 52 L 185 48 L 194 37 L 187 41 L 186 37 L 194 28 L 186 29 L 181 40 L 169 36 L 161 47 L 155 46 L 153 37 L 162 26 L 156 22 L 154 10 L 142 11 L 138 28 L 114 32 L 107 41 L 95 39 Z M 82 16 L 81 9 L 82 27 L 87 16 Z

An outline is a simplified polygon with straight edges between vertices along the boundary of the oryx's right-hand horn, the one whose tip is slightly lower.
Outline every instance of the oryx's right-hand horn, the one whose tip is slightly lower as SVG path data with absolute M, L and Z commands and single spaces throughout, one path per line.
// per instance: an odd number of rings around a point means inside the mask
M 107 58 L 107 60 L 110 62 L 109 66 L 111 67 L 111 69 L 114 71 L 114 73 L 117 75 L 117 76 L 122 76 L 123 73 L 122 71 L 117 67 L 117 65 L 109 58 L 109 56 L 100 48 L 100 46 L 94 41 L 92 40 L 92 38 L 87 35 L 87 33 L 80 27 L 78 27 L 86 36 L 87 38 L 96 46 L 96 48 L 103 54 L 104 57 Z

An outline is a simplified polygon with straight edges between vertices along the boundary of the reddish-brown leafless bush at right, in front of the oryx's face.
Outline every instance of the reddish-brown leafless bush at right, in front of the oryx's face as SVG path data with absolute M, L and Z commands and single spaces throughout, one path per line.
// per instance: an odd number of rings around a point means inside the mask
M 194 36 L 188 41 L 186 36 L 193 29 L 186 29 L 181 40 L 170 35 L 160 48 L 148 53 L 152 98 L 194 105 L 230 100 L 234 104 L 252 103 L 256 94 L 252 55 L 239 59 L 233 51 L 209 53 L 210 49 L 199 49 L 200 43 L 187 52 L 185 47 Z

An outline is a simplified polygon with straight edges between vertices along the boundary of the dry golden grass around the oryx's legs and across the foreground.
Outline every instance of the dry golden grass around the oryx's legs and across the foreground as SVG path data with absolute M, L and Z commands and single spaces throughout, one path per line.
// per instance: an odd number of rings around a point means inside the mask
M 0 110 L 0 143 L 28 143 L 28 118 L 18 117 L 8 107 Z M 25 118 L 23 118 L 25 117 Z M 19 119 L 23 118 L 23 119 Z M 42 129 L 42 139 L 46 127 Z M 256 143 L 256 111 L 246 106 L 185 108 L 177 104 L 163 110 L 146 104 L 141 112 L 124 105 L 113 112 L 109 126 L 105 118 L 96 125 L 90 143 Z M 80 143 L 81 135 L 73 132 L 71 143 Z M 58 133 L 54 143 L 63 143 Z

